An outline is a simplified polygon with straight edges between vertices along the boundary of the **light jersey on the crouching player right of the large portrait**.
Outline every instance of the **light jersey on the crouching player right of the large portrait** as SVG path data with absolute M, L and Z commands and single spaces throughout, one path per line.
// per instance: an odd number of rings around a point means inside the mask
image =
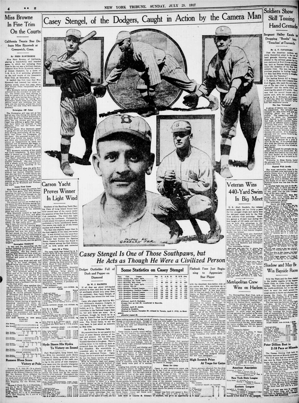
M 163 158 L 157 170 L 158 191 L 168 197 L 164 187 L 164 175 L 167 170 L 174 170 L 176 178 L 182 180 L 181 192 L 184 196 L 203 195 L 216 199 L 216 181 L 213 178 L 212 162 L 208 154 L 191 146 L 187 157 L 181 159 L 176 150 Z

